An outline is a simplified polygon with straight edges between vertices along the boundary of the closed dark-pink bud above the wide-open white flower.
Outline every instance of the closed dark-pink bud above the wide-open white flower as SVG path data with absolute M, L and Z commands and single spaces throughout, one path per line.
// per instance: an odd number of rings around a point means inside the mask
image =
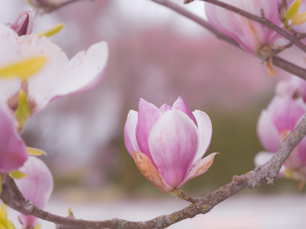
M 11 28 L 19 35 L 31 34 L 33 29 L 33 17 L 31 10 L 22 11 L 12 24 Z

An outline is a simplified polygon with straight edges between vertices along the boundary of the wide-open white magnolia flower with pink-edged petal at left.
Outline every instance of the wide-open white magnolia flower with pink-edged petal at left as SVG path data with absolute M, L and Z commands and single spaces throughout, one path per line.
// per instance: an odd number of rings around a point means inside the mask
M 50 101 L 68 94 L 82 92 L 97 85 L 103 78 L 108 59 L 106 42 L 99 42 L 87 51 L 77 53 L 70 61 L 65 53 L 47 37 L 18 36 L 0 24 L 0 66 L 26 57 L 46 55 L 44 67 L 28 78 L 0 80 L 0 106 L 14 111 L 18 93 L 27 93 L 31 114 L 43 109 Z

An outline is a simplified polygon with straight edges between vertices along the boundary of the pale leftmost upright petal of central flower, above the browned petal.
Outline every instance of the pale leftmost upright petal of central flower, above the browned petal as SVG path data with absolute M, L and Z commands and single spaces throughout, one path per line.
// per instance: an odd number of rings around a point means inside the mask
M 124 126 L 124 143 L 129 154 L 133 157 L 133 150 L 140 152 L 136 140 L 137 111 L 130 110 Z

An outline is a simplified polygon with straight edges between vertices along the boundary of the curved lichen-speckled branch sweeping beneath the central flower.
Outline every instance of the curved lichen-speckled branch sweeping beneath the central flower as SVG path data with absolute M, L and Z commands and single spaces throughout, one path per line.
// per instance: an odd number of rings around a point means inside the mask
M 187 218 L 193 218 L 198 214 L 209 212 L 215 205 L 233 196 L 237 192 L 246 187 L 256 188 L 263 183 L 274 185 L 274 181 L 278 176 L 282 164 L 289 157 L 290 153 L 297 144 L 306 135 L 306 115 L 297 125 L 297 127 L 284 139 L 279 145 L 276 153 L 265 164 L 258 166 L 254 170 L 247 172 L 241 176 L 233 176 L 231 183 L 228 183 L 211 194 L 202 195 L 194 204 L 173 212 L 169 215 L 162 215 L 152 220 L 144 222 L 132 222 L 128 220 L 112 219 L 104 221 L 79 220 L 69 217 L 57 216 L 47 211 L 39 209 L 35 204 L 26 201 L 18 190 L 14 180 L 7 176 L 3 184 L 3 190 L 0 198 L 11 208 L 23 213 L 24 215 L 33 215 L 42 220 L 47 220 L 57 224 L 69 226 L 71 228 L 131 228 L 131 229 L 153 229 L 166 228 Z M 67 227 L 66 227 L 67 228 Z

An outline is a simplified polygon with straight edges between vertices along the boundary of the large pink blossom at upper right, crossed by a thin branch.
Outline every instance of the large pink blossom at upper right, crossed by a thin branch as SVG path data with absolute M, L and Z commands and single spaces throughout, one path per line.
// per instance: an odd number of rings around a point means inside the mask
M 263 9 L 267 19 L 282 25 L 278 17 L 279 0 L 223 0 L 223 2 L 257 16 L 261 16 L 260 9 Z M 211 3 L 205 2 L 205 12 L 213 27 L 232 37 L 241 47 L 253 54 L 258 54 L 264 46 L 270 47 L 279 38 L 275 31 L 265 25 Z

